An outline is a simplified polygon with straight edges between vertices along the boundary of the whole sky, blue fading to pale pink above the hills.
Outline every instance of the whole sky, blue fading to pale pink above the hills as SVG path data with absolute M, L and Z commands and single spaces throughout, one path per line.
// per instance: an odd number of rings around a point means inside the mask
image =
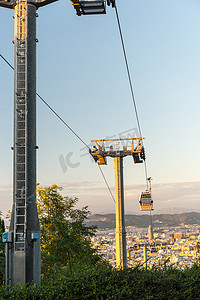
M 145 137 L 154 213 L 200 211 L 200 3 L 118 0 Z M 13 10 L 0 7 L 0 53 L 13 64 Z M 115 11 L 75 14 L 69 0 L 40 8 L 37 92 L 74 131 L 92 139 L 137 134 Z M 12 206 L 13 71 L 0 60 L 0 210 Z M 37 99 L 37 181 L 57 183 L 92 213 L 114 202 L 85 146 Z M 63 162 L 64 161 L 64 162 Z M 114 162 L 102 166 L 114 193 Z M 139 214 L 144 166 L 124 159 L 125 210 Z

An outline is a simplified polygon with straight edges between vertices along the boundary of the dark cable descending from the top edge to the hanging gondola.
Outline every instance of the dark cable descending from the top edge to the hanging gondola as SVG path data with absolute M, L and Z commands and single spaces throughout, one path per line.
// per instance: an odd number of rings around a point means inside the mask
M 125 64 L 126 64 L 126 71 L 127 71 L 127 75 L 128 75 L 128 81 L 129 81 L 129 85 L 130 85 L 131 96 L 132 96 L 132 100 L 133 100 L 133 106 L 134 106 L 135 115 L 136 115 L 136 121 L 137 121 L 140 137 L 142 137 L 142 130 L 141 130 L 141 126 L 140 126 L 139 115 L 138 115 L 135 96 L 134 96 L 134 91 L 133 91 L 133 84 L 132 84 L 132 79 L 131 79 L 131 74 L 130 74 L 130 69 L 129 69 L 129 64 L 128 64 L 128 58 L 127 58 L 127 54 L 126 54 L 126 48 L 125 48 L 124 38 L 123 38 L 123 34 L 122 34 L 122 28 L 121 28 L 119 14 L 118 14 L 116 4 L 115 4 L 115 13 L 116 13 L 116 17 L 117 17 L 117 24 L 118 24 L 118 29 L 119 29 L 119 34 L 120 34 L 120 39 L 121 39 Z M 141 141 L 141 142 L 142 142 L 142 145 L 143 145 L 143 141 Z M 146 176 L 146 185 L 147 185 L 147 189 L 148 189 L 148 181 L 147 181 L 148 173 L 147 173 L 146 160 L 144 160 L 144 169 L 145 169 L 145 176 Z

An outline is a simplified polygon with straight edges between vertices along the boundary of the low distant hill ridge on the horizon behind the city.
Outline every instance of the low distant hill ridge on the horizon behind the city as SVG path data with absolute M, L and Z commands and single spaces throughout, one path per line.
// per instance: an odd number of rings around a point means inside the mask
M 198 224 L 200 225 L 200 213 L 190 212 L 182 214 L 158 214 L 153 215 L 153 226 L 166 226 L 173 227 L 184 225 Z M 87 225 L 96 225 L 99 229 L 112 229 L 115 228 L 115 215 L 114 214 L 95 214 L 91 215 L 87 220 Z M 149 214 L 144 215 L 126 215 L 125 225 L 136 227 L 147 227 L 150 224 Z

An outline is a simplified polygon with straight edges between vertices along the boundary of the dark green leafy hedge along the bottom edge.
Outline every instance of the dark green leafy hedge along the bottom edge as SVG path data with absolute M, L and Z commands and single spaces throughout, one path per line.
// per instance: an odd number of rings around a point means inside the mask
M 1 287 L 0 299 L 200 299 L 200 269 L 126 268 L 116 270 L 108 265 L 92 269 L 77 267 L 54 270 L 44 276 L 42 286 Z

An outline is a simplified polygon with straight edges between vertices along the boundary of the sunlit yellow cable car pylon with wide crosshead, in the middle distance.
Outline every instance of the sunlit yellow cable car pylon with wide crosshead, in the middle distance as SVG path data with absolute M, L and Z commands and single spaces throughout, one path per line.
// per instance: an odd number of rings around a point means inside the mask
M 134 163 L 143 163 L 143 138 L 92 140 L 95 143 L 90 154 L 99 165 L 107 165 L 107 157 L 114 158 L 115 166 L 115 211 L 116 211 L 116 266 L 123 269 L 127 266 L 126 230 L 124 218 L 124 183 L 123 158 L 132 156 Z M 127 146 L 122 145 L 126 142 Z M 110 146 L 109 143 L 112 143 Z

